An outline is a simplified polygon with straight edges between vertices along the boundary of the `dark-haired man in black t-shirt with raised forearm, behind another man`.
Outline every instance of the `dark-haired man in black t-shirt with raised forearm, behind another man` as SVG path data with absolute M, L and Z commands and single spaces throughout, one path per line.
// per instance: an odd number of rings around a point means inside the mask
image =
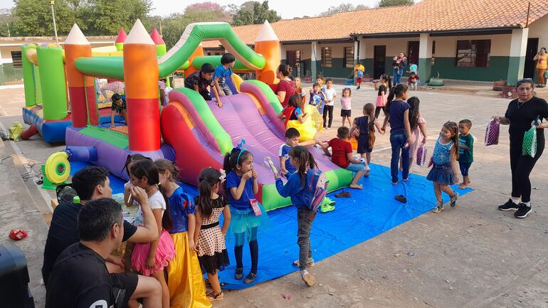
M 112 197 L 108 171 L 98 166 L 90 166 L 76 172 L 73 176 L 72 186 L 80 196 L 80 203 L 60 204 L 53 211 L 53 217 L 51 218 L 42 266 L 42 277 L 46 287 L 48 286 L 51 268 L 58 255 L 68 246 L 80 241 L 76 225 L 80 208 L 91 200 Z M 137 228 L 135 225 L 124 221 L 122 241 L 150 243 L 158 238 L 158 227 L 148 204 L 147 193 L 142 188 L 133 187 L 132 196 L 142 207 L 144 225 Z M 122 258 L 109 255 L 107 257 L 107 267 L 111 272 L 123 272 Z

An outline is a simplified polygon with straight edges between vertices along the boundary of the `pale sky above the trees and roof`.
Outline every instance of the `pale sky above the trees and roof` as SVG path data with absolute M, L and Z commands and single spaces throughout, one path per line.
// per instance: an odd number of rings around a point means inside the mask
M 246 0 L 209 0 L 211 2 L 216 2 L 221 6 L 226 6 L 227 4 L 236 4 L 240 5 Z M 263 0 L 258 0 L 262 2 Z M 152 0 L 152 5 L 154 10 L 152 15 L 167 16 L 172 13 L 184 11 L 184 8 L 187 5 L 201 3 L 204 1 L 188 1 L 188 0 Z M 377 0 L 343 0 L 343 1 L 327 1 L 327 0 L 270 0 L 268 1 L 268 6 L 270 9 L 275 11 L 282 16 L 284 19 L 301 17 L 301 16 L 316 16 L 322 11 L 327 11 L 330 6 L 336 6 L 341 3 L 350 3 L 350 4 L 364 4 L 369 7 L 375 6 Z M 14 6 L 13 0 L 0 0 L 0 9 L 7 9 Z

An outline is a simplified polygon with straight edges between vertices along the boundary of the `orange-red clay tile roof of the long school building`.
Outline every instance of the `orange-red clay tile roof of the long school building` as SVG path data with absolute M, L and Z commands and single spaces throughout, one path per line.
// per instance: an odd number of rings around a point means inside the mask
M 413 6 L 349 11 L 332 16 L 271 23 L 280 41 L 349 39 L 351 34 L 418 33 L 478 28 L 520 28 L 527 22 L 528 0 L 422 0 Z M 547 0 L 530 0 L 529 23 L 548 14 Z M 397 18 L 394 18 L 396 17 Z M 262 25 L 236 26 L 253 45 Z M 218 41 L 204 42 L 217 47 Z

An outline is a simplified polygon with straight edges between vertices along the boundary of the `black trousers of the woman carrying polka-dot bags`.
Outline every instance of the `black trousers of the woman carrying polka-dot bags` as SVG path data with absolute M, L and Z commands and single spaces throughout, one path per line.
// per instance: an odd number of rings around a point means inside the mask
M 531 201 L 529 174 L 544 151 L 544 133 L 537 133 L 537 154 L 534 157 L 522 155 L 523 135 L 510 134 L 510 168 L 512 169 L 512 197 Z

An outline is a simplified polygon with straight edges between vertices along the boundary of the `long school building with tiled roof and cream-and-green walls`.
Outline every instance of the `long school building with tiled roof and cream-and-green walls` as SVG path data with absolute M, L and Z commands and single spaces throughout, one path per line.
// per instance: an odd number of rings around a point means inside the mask
M 249 46 L 262 25 L 234 30 Z M 349 78 L 361 60 L 366 75 L 391 75 L 394 55 L 404 52 L 418 65 L 423 83 L 453 80 L 533 78 L 532 60 L 548 46 L 546 0 L 422 0 L 413 6 L 349 11 L 332 16 L 271 23 L 281 58 L 301 78 Z M 218 41 L 204 53 L 222 54 Z M 408 66 L 409 69 L 409 66 Z

